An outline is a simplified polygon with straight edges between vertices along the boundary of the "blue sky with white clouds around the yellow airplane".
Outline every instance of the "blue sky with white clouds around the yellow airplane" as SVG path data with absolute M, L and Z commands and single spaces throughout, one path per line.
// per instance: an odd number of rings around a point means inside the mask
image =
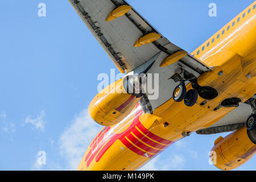
M 46 17 L 38 16 L 41 2 Z M 192 52 L 253 0 L 128 2 Z M 212 2 L 217 17 L 208 15 Z M 67 0 L 0 1 L 0 7 L 0 169 L 76 169 L 101 129 L 87 110 L 97 76 L 115 66 Z M 216 170 L 208 153 L 218 136 L 192 134 L 142 169 Z M 36 163 L 39 151 L 46 165 Z M 255 162 L 254 156 L 237 169 L 255 170 Z

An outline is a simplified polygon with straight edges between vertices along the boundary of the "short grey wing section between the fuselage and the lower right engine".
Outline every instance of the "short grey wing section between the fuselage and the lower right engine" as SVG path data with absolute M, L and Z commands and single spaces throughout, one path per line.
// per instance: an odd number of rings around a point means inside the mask
M 250 104 L 241 103 L 236 109 L 225 115 L 225 117 L 220 119 L 218 122 L 214 123 L 207 129 L 198 130 L 196 133 L 201 135 L 209 135 L 238 130 L 245 126 L 247 118 L 250 115 Z

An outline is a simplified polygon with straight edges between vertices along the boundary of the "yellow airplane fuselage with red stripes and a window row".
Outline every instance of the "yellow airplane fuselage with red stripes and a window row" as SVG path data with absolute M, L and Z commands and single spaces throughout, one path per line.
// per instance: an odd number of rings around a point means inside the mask
M 216 109 L 226 98 L 237 97 L 242 102 L 249 100 L 256 93 L 255 4 L 192 52 L 197 59 L 212 67 L 212 71 L 204 73 L 197 81 L 201 86 L 215 88 L 218 91 L 216 98 L 206 101 L 199 97 L 192 107 L 171 98 L 155 109 L 154 114 L 144 114 L 137 104 L 121 122 L 100 131 L 78 169 L 138 169 L 164 148 L 183 138 L 182 134 L 209 127 L 235 109 Z M 218 74 L 220 72 L 222 74 Z M 188 84 L 187 90 L 190 88 L 192 86 Z

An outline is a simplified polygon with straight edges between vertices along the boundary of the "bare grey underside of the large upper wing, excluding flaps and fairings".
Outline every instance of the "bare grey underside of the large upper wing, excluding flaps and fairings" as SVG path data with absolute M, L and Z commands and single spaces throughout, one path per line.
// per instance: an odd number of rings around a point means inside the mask
M 127 16 L 106 22 L 106 17 L 116 8 L 112 1 L 79 0 L 77 4 L 69 1 L 115 65 L 127 69 L 127 72 L 159 52 L 154 44 L 133 47 L 143 33 Z

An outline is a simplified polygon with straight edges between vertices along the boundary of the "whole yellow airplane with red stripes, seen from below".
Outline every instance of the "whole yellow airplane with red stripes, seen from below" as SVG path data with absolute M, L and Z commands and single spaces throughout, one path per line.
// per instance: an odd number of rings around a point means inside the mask
M 124 0 L 69 2 L 125 73 L 89 105 L 104 128 L 78 170 L 137 170 L 192 133 L 230 133 L 215 140 L 209 156 L 221 170 L 237 168 L 255 154 L 256 1 L 192 53 L 171 43 Z

